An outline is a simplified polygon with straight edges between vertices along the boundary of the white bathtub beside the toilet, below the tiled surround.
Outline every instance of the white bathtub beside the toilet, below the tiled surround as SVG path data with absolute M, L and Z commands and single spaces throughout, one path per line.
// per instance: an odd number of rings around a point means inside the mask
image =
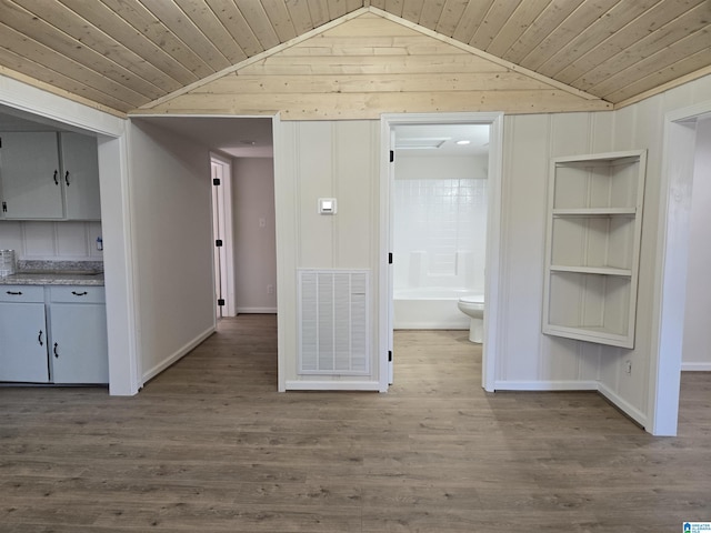
M 449 288 L 398 289 L 393 294 L 395 330 L 468 330 L 469 316 L 457 308 L 475 291 Z

